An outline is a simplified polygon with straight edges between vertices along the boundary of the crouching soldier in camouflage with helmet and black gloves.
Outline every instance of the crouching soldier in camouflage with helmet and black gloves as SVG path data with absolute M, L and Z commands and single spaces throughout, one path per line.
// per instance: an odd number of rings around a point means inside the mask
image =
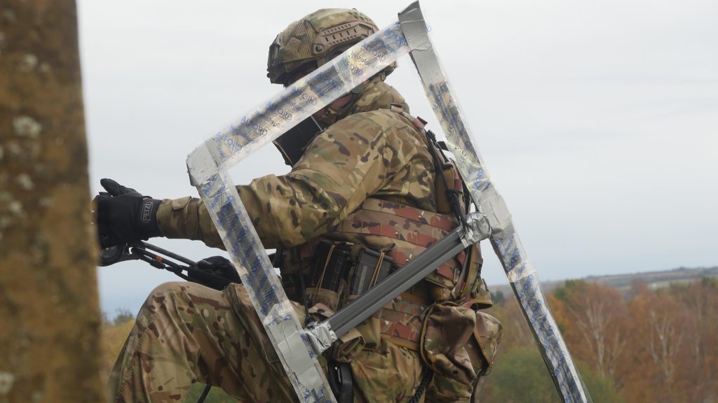
M 291 85 L 376 30 L 354 9 L 316 11 L 276 37 L 267 76 Z M 277 249 L 274 262 L 302 320 L 330 316 L 458 225 L 437 189 L 450 182 L 461 191 L 460 178 L 432 155 L 423 123 L 384 82 L 394 67 L 315 113 L 321 131 L 290 131 L 275 142 L 289 174 L 238 186 L 264 247 Z M 103 186 L 109 194 L 95 199 L 103 247 L 158 236 L 223 247 L 201 200 Z M 480 267 L 477 246 L 462 252 L 343 336 L 322 366 L 350 368 L 355 402 L 470 401 L 501 331 L 475 312 L 491 304 Z M 193 382 L 242 402 L 297 400 L 240 284 L 157 287 L 109 389 L 112 402 L 182 402 Z

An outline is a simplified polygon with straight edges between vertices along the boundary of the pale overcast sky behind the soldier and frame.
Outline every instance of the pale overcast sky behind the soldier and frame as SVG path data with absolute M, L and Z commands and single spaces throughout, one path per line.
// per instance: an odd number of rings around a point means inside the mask
M 250 5 L 251 4 L 251 5 Z M 80 0 L 92 192 L 112 178 L 155 198 L 197 196 L 185 159 L 281 90 L 269 44 L 320 7 L 380 27 L 396 1 Z M 432 41 L 541 280 L 718 265 L 718 3 L 423 1 Z M 388 78 L 439 127 L 405 57 Z M 286 172 L 266 147 L 237 184 Z M 223 253 L 157 240 L 194 260 Z M 484 276 L 507 283 L 488 244 Z M 139 309 L 174 280 L 98 269 L 103 310 Z

